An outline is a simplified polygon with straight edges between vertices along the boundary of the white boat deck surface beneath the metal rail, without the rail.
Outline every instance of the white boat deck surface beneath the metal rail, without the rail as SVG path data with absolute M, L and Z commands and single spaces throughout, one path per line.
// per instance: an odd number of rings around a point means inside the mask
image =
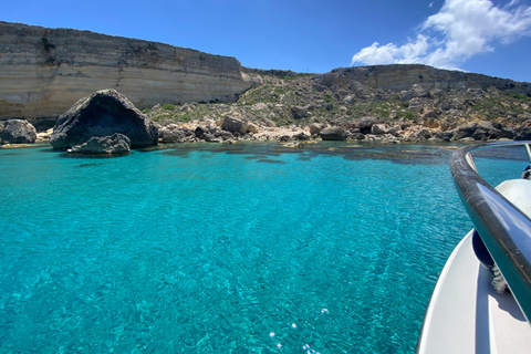
M 531 180 L 506 181 L 497 189 L 531 215 Z M 456 247 L 439 275 L 417 352 L 529 354 L 531 325 L 510 293 L 496 292 L 493 274 L 477 259 L 471 236 Z

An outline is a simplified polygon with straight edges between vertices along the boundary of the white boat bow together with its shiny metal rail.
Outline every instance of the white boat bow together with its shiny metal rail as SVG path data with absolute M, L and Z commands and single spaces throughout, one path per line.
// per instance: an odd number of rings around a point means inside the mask
M 452 175 L 476 229 L 511 291 L 494 290 L 494 275 L 476 257 L 475 230 L 470 231 L 439 275 L 417 353 L 529 354 L 531 180 L 507 180 L 494 191 L 477 176 L 470 149 L 454 156 Z

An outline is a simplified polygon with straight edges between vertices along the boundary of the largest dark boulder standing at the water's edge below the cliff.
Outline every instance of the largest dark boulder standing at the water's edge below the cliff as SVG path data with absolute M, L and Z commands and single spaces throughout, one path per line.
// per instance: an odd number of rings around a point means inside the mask
M 64 149 L 114 133 L 127 136 L 133 148 L 158 143 L 158 131 L 152 121 L 123 94 L 103 90 L 81 98 L 59 117 L 50 144 Z

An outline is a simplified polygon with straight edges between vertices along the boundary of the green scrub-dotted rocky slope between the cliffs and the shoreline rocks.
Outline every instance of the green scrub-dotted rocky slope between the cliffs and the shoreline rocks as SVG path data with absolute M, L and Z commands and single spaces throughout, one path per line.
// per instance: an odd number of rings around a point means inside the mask
M 379 90 L 355 84 L 324 86 L 314 75 L 288 77 L 253 73 L 261 82 L 235 103 L 164 104 L 146 111 L 155 122 L 190 122 L 232 116 L 277 126 L 329 123 L 346 125 L 364 116 L 382 121 L 426 117 L 451 122 L 493 121 L 518 125 L 531 122 L 531 97 L 489 88 L 409 91 Z

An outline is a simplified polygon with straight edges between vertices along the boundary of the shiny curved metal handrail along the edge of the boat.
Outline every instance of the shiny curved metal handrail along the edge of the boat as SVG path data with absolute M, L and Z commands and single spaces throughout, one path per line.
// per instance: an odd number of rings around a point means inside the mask
M 522 145 L 529 153 L 528 144 L 531 142 L 460 148 L 451 157 L 450 170 L 476 230 L 531 322 L 531 219 L 478 175 L 470 156 L 470 152 L 478 148 L 514 145 Z

